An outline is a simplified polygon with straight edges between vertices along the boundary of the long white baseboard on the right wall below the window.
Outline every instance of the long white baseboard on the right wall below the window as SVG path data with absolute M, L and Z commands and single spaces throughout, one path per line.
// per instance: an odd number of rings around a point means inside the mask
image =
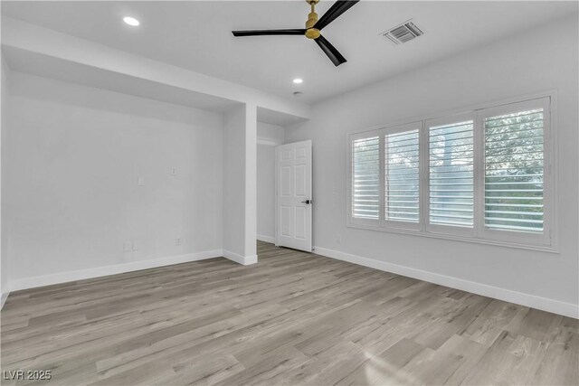
M 457 288 L 484 297 L 493 297 L 521 306 L 529 306 L 558 315 L 574 317 L 575 319 L 579 318 L 579 306 L 571 303 L 565 303 L 546 297 L 536 297 L 535 295 L 529 295 L 506 288 L 493 287 L 474 281 L 453 278 L 422 269 L 404 267 L 376 259 L 363 258 L 361 256 L 340 252 L 334 249 L 315 247 L 314 253 L 332 259 L 344 260 L 361 266 L 392 272 L 409 278 L 418 278 L 445 287 Z

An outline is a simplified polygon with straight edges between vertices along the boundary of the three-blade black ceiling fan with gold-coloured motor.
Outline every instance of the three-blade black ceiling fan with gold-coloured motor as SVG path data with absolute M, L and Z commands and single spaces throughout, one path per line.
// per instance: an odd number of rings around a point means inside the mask
M 336 47 L 330 44 L 330 42 L 327 42 L 326 38 L 321 35 L 320 31 L 322 28 L 327 26 L 327 24 L 336 20 L 341 14 L 344 14 L 348 9 L 350 9 L 350 7 L 356 5 L 359 0 L 338 0 L 319 20 L 318 14 L 316 14 L 316 5 L 318 4 L 318 1 L 319 0 L 306 0 L 306 3 L 311 6 L 311 12 L 308 14 L 306 28 L 289 30 L 232 31 L 233 36 L 304 35 L 308 39 L 313 39 L 314 42 L 317 42 L 319 48 L 326 53 L 330 61 L 332 61 L 336 66 L 339 66 L 346 62 L 346 58 L 337 51 Z

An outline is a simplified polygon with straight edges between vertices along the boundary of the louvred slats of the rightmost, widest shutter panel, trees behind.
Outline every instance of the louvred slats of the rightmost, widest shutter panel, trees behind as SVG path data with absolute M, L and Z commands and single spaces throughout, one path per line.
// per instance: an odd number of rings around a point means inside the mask
M 543 231 L 544 124 L 544 108 L 484 118 L 485 228 Z

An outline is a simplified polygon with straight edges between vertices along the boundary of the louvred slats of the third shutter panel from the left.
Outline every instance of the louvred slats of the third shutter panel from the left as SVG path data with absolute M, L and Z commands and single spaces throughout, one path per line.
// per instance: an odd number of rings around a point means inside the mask
M 473 121 L 428 127 L 429 223 L 473 227 Z

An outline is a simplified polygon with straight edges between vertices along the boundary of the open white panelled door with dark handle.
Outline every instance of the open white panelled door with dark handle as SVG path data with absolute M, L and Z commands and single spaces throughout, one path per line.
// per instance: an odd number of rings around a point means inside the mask
M 311 141 L 275 148 L 276 245 L 311 251 Z

